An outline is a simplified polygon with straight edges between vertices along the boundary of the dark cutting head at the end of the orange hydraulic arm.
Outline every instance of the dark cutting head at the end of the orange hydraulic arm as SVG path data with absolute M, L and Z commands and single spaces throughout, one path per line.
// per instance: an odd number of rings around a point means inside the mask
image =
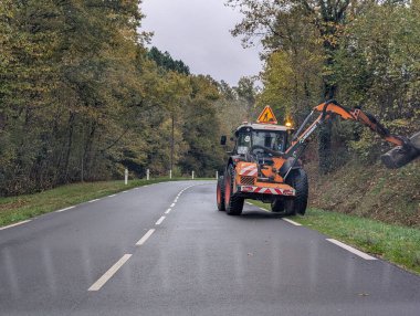
M 420 131 L 410 137 L 405 146 L 397 146 L 380 156 L 382 164 L 389 169 L 397 169 L 420 157 Z

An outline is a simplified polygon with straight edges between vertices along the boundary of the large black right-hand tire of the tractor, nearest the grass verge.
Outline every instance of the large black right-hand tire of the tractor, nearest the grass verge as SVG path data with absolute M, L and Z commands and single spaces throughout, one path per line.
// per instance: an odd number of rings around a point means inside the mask
M 284 210 L 286 215 L 304 215 L 307 207 L 307 197 L 309 194 L 309 185 L 307 175 L 303 169 L 295 169 L 288 173 L 286 183 L 296 190 L 296 197 L 285 198 Z

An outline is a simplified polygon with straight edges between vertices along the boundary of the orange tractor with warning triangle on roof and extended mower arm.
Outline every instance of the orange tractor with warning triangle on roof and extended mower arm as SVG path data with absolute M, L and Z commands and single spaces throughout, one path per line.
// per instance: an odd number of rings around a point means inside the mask
M 305 129 L 315 113 L 318 117 Z M 357 120 L 396 147 L 381 156 L 388 168 L 399 168 L 420 156 L 420 133 L 411 138 L 392 135 L 372 115 L 360 108 L 347 109 L 336 101 L 316 106 L 296 133 L 290 126 L 276 125 L 270 107 L 261 113 L 258 124 L 244 123 L 234 133 L 235 146 L 217 186 L 219 211 L 242 213 L 245 199 L 271 203 L 273 212 L 304 214 L 308 181 L 300 157 L 308 137 L 332 116 Z M 221 145 L 227 137 L 222 136 Z

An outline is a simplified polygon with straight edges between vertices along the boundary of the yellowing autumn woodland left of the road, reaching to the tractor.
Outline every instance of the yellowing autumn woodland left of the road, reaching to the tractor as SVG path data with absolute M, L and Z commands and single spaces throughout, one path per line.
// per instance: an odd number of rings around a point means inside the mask
M 246 112 L 253 81 L 190 74 L 148 48 L 143 19 L 134 0 L 1 1 L 0 196 L 125 168 L 214 176 L 220 134 Z

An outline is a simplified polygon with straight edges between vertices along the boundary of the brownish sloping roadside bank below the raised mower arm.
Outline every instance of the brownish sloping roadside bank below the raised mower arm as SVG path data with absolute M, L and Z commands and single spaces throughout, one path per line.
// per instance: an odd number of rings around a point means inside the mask
M 355 161 L 322 176 L 308 164 L 311 207 L 420 230 L 420 160 L 389 170 Z

